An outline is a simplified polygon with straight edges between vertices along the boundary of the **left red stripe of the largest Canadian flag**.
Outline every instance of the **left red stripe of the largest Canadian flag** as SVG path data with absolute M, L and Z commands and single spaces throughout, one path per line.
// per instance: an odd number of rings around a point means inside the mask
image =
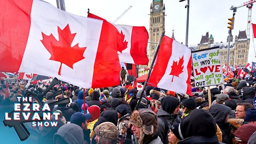
M 16 72 L 20 68 L 30 30 L 32 4 L 31 0 L 1 1 L 1 5 L 4 6 L 0 9 L 0 61 L 5 63 L 0 65 L 1 71 Z M 5 17 L 6 14 L 9 17 Z M 10 47 L 19 47 L 19 49 L 14 50 Z

